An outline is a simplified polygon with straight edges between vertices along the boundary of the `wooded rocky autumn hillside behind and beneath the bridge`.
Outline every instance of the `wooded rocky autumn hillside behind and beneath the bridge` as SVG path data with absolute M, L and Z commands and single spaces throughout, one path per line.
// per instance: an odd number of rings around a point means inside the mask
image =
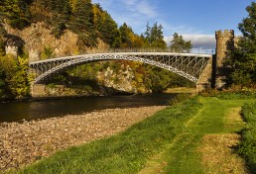
M 20 78 L 19 68 L 8 69 L 4 65 L 5 45 L 17 45 L 19 56 L 22 59 L 30 57 L 30 61 L 76 55 L 108 47 L 167 47 L 161 25 L 155 23 L 150 27 L 147 24 L 145 34 L 139 36 L 126 23 L 118 27 L 110 14 L 99 4 L 92 4 L 91 0 L 4 0 L 0 2 L 0 24 L 2 93 L 8 91 L 13 96 L 28 95 L 29 80 L 22 80 L 26 81 L 25 91 L 21 89 L 24 88 L 23 85 L 17 87 L 13 82 L 17 81 L 13 79 L 13 74 L 17 74 L 17 79 Z M 105 75 L 109 72 L 110 75 Z M 71 88 L 71 95 L 91 95 L 95 92 L 105 95 L 109 93 L 109 88 L 110 93 L 159 92 L 181 84 L 192 86 L 190 82 L 169 71 L 126 61 L 81 65 L 48 82 L 54 88 L 57 85 L 67 87 L 66 91 Z

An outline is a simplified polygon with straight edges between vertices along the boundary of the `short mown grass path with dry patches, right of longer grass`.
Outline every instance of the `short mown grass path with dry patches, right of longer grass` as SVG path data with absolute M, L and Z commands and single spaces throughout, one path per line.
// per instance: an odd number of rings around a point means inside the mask
M 248 100 L 200 99 L 203 107 L 186 124 L 186 131 L 177 137 L 175 143 L 167 146 L 158 157 L 160 164 L 163 162 L 167 164 L 166 166 L 158 165 L 158 171 L 178 174 L 235 173 L 236 171 L 243 173 L 246 167 L 243 160 L 234 154 L 232 145 L 238 143 L 235 139 L 236 132 L 244 128 L 244 123 L 238 119 L 240 117 L 238 108 L 240 109 Z M 209 141 L 208 137 L 215 138 Z M 202 150 L 205 147 L 215 150 L 214 155 L 211 154 L 212 158 L 208 159 L 212 162 L 210 165 L 203 161 L 209 152 Z M 218 149 L 221 149 L 222 153 Z M 230 161 L 234 161 L 231 166 Z M 156 163 L 154 165 L 157 166 Z M 232 172 L 230 168 L 234 171 Z M 147 174 L 150 173 L 158 172 L 153 167 Z

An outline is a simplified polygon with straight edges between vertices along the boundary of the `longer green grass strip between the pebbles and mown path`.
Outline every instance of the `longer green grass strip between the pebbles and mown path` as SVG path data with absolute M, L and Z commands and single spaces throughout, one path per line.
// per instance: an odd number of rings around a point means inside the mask
M 200 108 L 193 98 L 123 133 L 58 152 L 19 173 L 136 173 L 186 130 L 185 124 Z

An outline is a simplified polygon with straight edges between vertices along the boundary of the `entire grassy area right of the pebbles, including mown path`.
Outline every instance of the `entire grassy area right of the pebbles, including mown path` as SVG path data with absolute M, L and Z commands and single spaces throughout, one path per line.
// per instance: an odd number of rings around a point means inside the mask
M 246 173 L 233 147 L 245 127 L 241 106 L 253 101 L 194 97 L 122 133 L 60 151 L 18 173 Z

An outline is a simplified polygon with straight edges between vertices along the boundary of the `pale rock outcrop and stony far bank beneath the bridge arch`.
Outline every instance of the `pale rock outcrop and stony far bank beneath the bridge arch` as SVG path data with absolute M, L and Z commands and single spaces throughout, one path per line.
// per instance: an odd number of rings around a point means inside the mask
M 108 61 L 101 62 L 109 63 Z M 116 68 L 107 66 L 96 72 L 97 89 L 83 84 L 82 86 L 66 87 L 64 85 L 33 85 L 33 97 L 64 97 L 64 96 L 107 96 L 112 94 L 151 93 L 143 82 L 136 80 L 135 69 L 129 64 L 115 63 Z

